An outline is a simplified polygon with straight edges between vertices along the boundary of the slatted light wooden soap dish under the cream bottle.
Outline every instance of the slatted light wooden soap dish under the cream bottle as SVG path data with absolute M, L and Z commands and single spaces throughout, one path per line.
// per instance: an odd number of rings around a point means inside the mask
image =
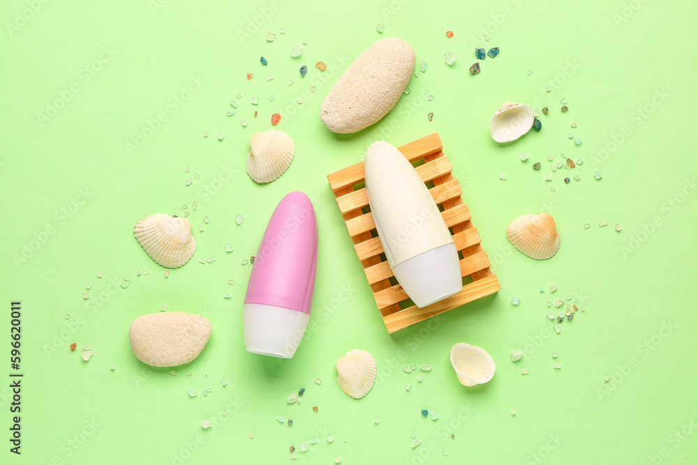
M 433 183 L 429 193 L 437 205 L 443 206 L 441 215 L 452 231 L 456 249 L 463 256 L 461 274 L 463 277 L 470 277 L 472 282 L 464 284 L 463 290 L 458 294 L 423 308 L 409 305 L 411 300 L 400 284 L 390 282 L 391 278 L 393 282 L 396 280 L 383 254 L 383 247 L 378 235 L 371 234 L 372 231 L 376 231 L 376 225 L 373 223 L 373 215 L 368 211 L 366 188 L 356 187 L 364 182 L 364 162 L 327 175 L 388 333 L 394 333 L 501 289 L 496 275 L 489 269 L 487 252 L 482 249 L 480 234 L 470 222 L 470 211 L 461 198 L 460 185 L 451 174 L 451 162 L 442 148 L 441 139 L 435 132 L 399 146 L 398 150 L 410 162 L 424 159 L 424 164 L 417 167 L 417 173 L 424 183 Z M 466 281 L 470 279 L 466 278 Z

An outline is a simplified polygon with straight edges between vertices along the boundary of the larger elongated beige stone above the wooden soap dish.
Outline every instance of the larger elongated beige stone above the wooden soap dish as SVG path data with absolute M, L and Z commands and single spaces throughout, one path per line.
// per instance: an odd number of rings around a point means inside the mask
M 380 121 L 397 103 L 415 69 L 415 51 L 398 38 L 378 40 L 351 63 L 322 102 L 332 132 L 357 132 Z

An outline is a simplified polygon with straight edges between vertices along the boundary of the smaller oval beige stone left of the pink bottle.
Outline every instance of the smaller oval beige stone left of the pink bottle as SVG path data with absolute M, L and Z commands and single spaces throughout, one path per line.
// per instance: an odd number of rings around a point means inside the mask
M 149 313 L 131 323 L 128 340 L 138 360 L 174 367 L 198 357 L 211 337 L 211 322 L 184 312 Z

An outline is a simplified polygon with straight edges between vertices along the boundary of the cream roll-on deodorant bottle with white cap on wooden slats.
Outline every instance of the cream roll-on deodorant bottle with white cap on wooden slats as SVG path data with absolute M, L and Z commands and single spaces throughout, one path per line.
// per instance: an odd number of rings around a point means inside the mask
M 387 142 L 369 146 L 366 193 L 388 264 L 417 307 L 463 289 L 453 238 L 417 171 Z

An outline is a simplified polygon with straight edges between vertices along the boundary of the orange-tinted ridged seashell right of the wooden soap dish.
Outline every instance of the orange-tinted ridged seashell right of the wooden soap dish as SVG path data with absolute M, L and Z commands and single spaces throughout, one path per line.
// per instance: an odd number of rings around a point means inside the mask
M 507 238 L 519 252 L 536 260 L 549 259 L 560 248 L 555 220 L 547 213 L 519 216 L 507 227 Z

